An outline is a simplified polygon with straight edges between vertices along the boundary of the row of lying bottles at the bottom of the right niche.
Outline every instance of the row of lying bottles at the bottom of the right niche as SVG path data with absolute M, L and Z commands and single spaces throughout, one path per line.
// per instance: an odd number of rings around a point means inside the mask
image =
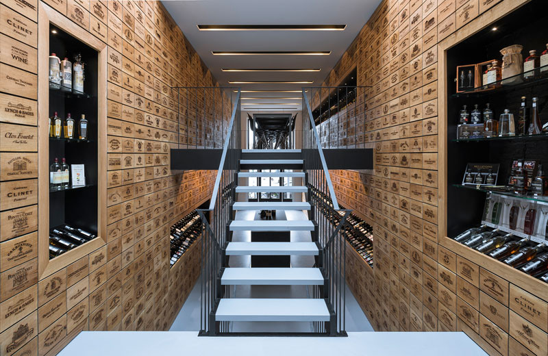
M 518 239 L 487 225 L 468 229 L 455 241 L 548 282 L 548 251 L 544 243 L 531 244 L 527 238 Z

